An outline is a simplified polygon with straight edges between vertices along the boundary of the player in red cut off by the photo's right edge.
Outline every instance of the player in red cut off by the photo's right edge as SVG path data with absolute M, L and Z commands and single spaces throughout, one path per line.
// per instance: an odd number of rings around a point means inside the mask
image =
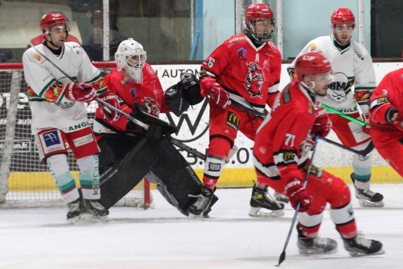
M 369 124 L 378 153 L 403 177 L 403 69 L 388 73 L 376 87 Z

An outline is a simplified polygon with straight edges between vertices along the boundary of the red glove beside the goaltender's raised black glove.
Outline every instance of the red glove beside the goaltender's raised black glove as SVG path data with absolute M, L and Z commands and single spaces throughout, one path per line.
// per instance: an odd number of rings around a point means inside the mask
M 200 88 L 201 96 L 206 97 L 209 95 L 213 102 L 222 108 L 226 108 L 228 106 L 230 96 L 228 92 L 216 82 L 215 79 L 204 78 L 200 82 Z

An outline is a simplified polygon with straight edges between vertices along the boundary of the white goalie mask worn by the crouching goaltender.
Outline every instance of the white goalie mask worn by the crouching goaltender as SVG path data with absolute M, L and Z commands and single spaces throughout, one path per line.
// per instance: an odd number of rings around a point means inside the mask
M 115 53 L 116 65 L 124 70 L 134 83 L 143 83 L 143 68 L 147 52 L 142 44 L 129 38 L 122 41 Z

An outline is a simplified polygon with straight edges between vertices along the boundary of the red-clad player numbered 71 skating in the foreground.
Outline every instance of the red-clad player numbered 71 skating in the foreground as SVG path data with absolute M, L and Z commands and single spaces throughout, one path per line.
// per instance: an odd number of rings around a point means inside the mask
M 351 255 L 382 254 L 382 243 L 358 234 L 350 189 L 339 177 L 315 167 L 303 187 L 310 162 L 311 139 L 324 138 L 331 128 L 329 115 L 318 106 L 334 77 L 330 62 L 317 52 L 303 54 L 295 61 L 296 79 L 277 96 L 274 107 L 260 125 L 253 147 L 257 178 L 286 194 L 298 215 L 300 253 L 334 253 L 337 242 L 318 237 L 323 210 L 330 204 L 330 218 Z

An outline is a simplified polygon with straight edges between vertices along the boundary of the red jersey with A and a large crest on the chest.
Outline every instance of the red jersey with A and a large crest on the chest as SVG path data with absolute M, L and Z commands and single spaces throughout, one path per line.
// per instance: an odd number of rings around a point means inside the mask
M 203 72 L 216 78 L 232 99 L 246 100 L 262 112 L 274 102 L 268 93 L 278 92 L 281 53 L 272 42 L 256 48 L 247 36 L 232 36 L 201 64 Z

